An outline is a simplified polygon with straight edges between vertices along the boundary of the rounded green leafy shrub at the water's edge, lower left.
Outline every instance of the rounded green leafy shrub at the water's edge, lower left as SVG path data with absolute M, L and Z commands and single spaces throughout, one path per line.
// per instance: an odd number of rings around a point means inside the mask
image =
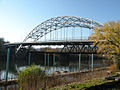
M 20 72 L 18 84 L 24 90 L 34 90 L 38 84 L 44 85 L 45 78 L 46 73 L 40 66 L 31 65 Z

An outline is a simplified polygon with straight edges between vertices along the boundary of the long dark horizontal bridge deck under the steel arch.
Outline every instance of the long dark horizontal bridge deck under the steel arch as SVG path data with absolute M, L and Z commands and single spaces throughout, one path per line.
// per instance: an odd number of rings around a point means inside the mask
M 83 44 L 92 44 L 94 41 L 91 40 L 71 40 L 71 41 L 46 41 L 46 42 L 18 42 L 18 43 L 6 43 L 5 46 L 12 47 L 12 46 L 22 46 L 27 45 L 83 45 Z

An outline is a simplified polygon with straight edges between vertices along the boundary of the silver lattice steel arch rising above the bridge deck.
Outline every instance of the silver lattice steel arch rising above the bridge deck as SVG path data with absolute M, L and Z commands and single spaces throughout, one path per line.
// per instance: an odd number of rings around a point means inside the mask
M 33 41 L 37 42 L 41 37 L 46 34 L 67 27 L 82 27 L 93 29 L 95 27 L 102 27 L 103 24 L 94 20 L 83 18 L 79 16 L 61 16 L 48 19 L 38 26 L 36 26 L 24 39 L 23 42 Z

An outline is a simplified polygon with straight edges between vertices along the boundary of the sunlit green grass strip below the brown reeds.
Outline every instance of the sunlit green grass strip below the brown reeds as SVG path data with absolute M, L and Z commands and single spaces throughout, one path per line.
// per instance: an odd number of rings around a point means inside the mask
M 73 84 L 67 84 L 61 87 L 51 88 L 50 90 L 82 90 L 89 88 L 91 86 L 95 85 L 101 85 L 107 82 L 112 82 L 113 80 L 105 80 L 105 79 L 93 79 L 93 80 L 87 80 L 84 82 L 79 83 L 73 83 Z

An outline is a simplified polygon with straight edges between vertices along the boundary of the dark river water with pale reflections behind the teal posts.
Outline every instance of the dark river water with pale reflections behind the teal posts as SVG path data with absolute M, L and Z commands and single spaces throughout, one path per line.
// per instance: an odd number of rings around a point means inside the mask
M 15 61 L 10 59 L 8 78 L 16 78 L 17 70 L 22 70 L 28 66 L 28 58 L 18 59 Z M 82 55 L 79 64 L 78 55 L 55 55 L 55 62 L 53 65 L 53 55 L 46 57 L 46 65 L 44 55 L 31 56 L 31 64 L 47 67 L 46 73 L 51 74 L 53 71 L 68 71 L 75 72 L 78 70 L 88 70 L 92 68 L 91 56 Z M 94 56 L 94 68 L 105 67 L 109 65 L 108 60 L 103 60 Z M 17 68 L 16 68 L 17 67 Z M 6 76 L 6 60 L 0 59 L 0 80 L 5 79 Z

